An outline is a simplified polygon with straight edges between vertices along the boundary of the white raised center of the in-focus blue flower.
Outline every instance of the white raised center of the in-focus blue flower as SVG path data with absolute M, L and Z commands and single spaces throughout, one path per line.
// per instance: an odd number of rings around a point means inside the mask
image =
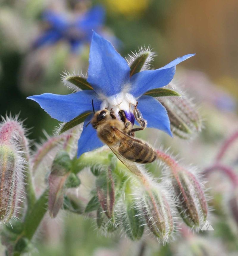
M 116 114 L 118 114 L 120 110 L 133 113 L 134 105 L 136 105 L 136 99 L 133 95 L 127 92 L 120 92 L 105 98 L 101 103 L 100 108 L 107 108 L 109 110 L 113 108 Z

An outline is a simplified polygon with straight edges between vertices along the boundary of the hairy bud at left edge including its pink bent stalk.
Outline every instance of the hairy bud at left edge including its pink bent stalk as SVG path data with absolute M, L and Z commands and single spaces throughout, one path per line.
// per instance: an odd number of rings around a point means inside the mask
M 24 158 L 21 151 L 24 129 L 16 119 L 6 118 L 0 125 L 0 223 L 16 214 L 23 188 Z

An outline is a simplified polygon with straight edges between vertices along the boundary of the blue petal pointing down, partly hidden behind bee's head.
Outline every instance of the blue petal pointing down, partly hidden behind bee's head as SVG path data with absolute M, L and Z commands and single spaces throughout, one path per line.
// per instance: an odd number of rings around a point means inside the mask
M 88 122 L 92 119 L 93 115 L 89 115 L 84 121 L 83 131 L 78 140 L 78 152 L 77 157 L 79 158 L 83 153 L 94 150 L 96 148 L 101 148 L 104 144 L 99 140 L 97 136 L 96 129 L 93 128 L 91 124 L 87 127 Z

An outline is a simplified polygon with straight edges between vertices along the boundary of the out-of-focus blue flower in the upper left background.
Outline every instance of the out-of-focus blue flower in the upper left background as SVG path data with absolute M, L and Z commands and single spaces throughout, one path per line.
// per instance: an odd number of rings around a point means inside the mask
M 68 41 L 72 52 L 91 41 L 93 30 L 98 33 L 104 24 L 105 10 L 102 6 L 95 6 L 86 13 L 78 16 L 73 22 L 62 13 L 47 10 L 43 13 L 43 21 L 48 24 L 47 29 L 33 42 L 33 48 L 54 45 L 60 40 Z

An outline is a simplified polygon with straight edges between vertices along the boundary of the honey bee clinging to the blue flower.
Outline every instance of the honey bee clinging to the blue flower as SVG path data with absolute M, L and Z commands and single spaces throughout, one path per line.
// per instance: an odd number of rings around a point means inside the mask
M 133 129 L 133 125 L 126 119 L 123 111 L 119 113 L 121 120 L 117 119 L 113 109 L 111 111 L 108 109 L 94 111 L 90 123 L 97 130 L 99 139 L 109 146 L 118 159 L 131 172 L 141 176 L 141 172 L 135 163 L 152 163 L 157 154 L 150 145 L 134 138 L 134 132 L 143 130 L 147 124 L 136 107 L 137 105 L 134 107 L 134 116 L 142 126 L 141 128 Z

